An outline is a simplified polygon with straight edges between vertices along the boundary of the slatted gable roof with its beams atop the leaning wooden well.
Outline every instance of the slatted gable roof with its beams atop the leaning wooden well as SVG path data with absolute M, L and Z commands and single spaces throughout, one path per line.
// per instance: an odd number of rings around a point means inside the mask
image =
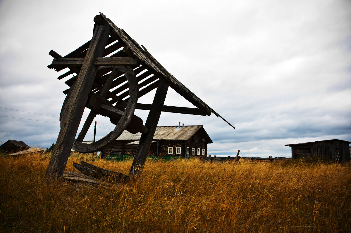
M 220 116 L 216 111 L 214 111 L 211 107 L 209 107 L 204 101 L 202 101 L 198 96 L 196 96 L 192 91 L 190 91 L 185 85 L 183 85 L 181 82 L 179 82 L 172 74 L 170 74 L 148 51 L 147 49 L 142 45 L 140 46 L 135 40 L 133 40 L 123 29 L 118 28 L 110 19 L 108 19 L 104 14 L 100 12 L 99 15 L 101 16 L 101 21 L 103 23 L 107 23 L 111 27 L 111 36 L 107 42 L 108 44 L 112 44 L 109 47 L 105 48 L 104 55 L 108 55 L 113 53 L 114 51 L 117 51 L 121 47 L 123 47 L 123 50 L 119 50 L 119 52 L 111 55 L 110 57 L 129 57 L 132 58 L 134 61 L 134 64 L 136 64 L 133 68 L 135 73 L 142 72 L 143 70 L 147 70 L 149 73 L 148 74 L 153 74 L 153 79 L 151 80 L 152 83 L 147 83 L 147 85 L 144 89 L 139 89 L 140 96 L 145 95 L 146 93 L 150 92 L 151 90 L 157 88 L 157 83 L 159 80 L 164 81 L 169 87 L 171 87 L 173 90 L 175 90 L 178 94 L 183 96 L 186 100 L 188 100 L 190 103 L 192 103 L 196 108 L 183 108 L 183 107 L 173 107 L 173 106 L 164 106 L 161 111 L 166 111 L 166 112 L 178 112 L 178 113 L 184 113 L 184 114 L 194 114 L 194 115 L 208 115 L 210 116 L 211 113 L 216 115 L 217 117 L 222 118 L 226 123 L 228 123 L 230 126 L 234 128 L 232 124 L 230 124 L 226 119 L 224 119 L 222 116 Z M 87 48 L 90 44 L 90 41 L 86 42 L 83 44 L 81 47 L 78 49 L 74 50 L 73 52 L 67 54 L 66 56 L 63 57 L 63 59 L 67 59 L 69 57 L 84 57 L 85 54 L 87 53 Z M 107 52 L 108 51 L 108 52 Z M 55 68 L 55 70 L 60 71 L 66 67 L 72 68 L 69 66 L 59 66 L 55 65 L 55 60 L 59 60 L 61 56 L 59 56 L 57 53 L 54 51 L 50 52 L 50 55 L 55 57 L 53 63 L 49 65 L 49 68 Z M 136 61 L 135 61 L 136 60 Z M 95 80 L 97 80 L 98 83 L 93 85 L 92 91 L 97 91 L 98 90 L 98 85 L 102 87 L 104 85 L 104 81 L 106 78 L 104 77 L 106 70 L 108 70 L 108 67 L 105 67 L 105 72 L 103 71 L 104 67 L 100 68 L 100 72 L 98 72 Z M 110 69 L 111 70 L 111 69 Z M 110 71 L 108 70 L 108 72 Z M 79 70 L 78 70 L 79 72 Z M 68 76 L 69 74 L 77 73 L 77 67 L 73 67 L 70 71 L 65 73 L 64 75 L 61 75 L 58 79 L 64 78 Z M 146 72 L 145 72 L 146 73 Z M 144 73 L 144 74 L 145 74 Z M 102 75 L 101 75 L 102 74 Z M 106 75 L 105 75 L 106 76 Z M 139 75 L 142 76 L 142 75 Z M 125 79 L 124 77 L 121 76 L 117 78 L 114 82 L 117 84 L 123 83 Z M 77 76 L 74 76 L 67 80 L 65 83 L 69 85 L 69 87 L 72 87 L 73 83 L 77 79 Z M 119 79 L 119 81 L 118 81 Z M 150 79 L 150 78 L 149 78 Z M 101 80 L 101 82 L 99 82 Z M 155 81 L 156 80 L 156 81 Z M 148 82 L 146 80 L 146 82 Z M 149 81 L 150 82 L 150 81 Z M 141 83 L 140 83 L 141 84 Z M 142 86 L 143 84 L 141 84 Z M 142 86 L 143 87 L 143 86 Z M 124 86 L 125 89 L 122 88 L 116 88 L 113 92 L 113 94 L 118 94 L 118 91 L 121 91 L 122 94 L 118 97 L 126 98 L 128 96 L 128 86 Z M 65 90 L 64 93 L 67 94 L 69 89 Z M 119 92 L 119 93 L 121 93 Z M 110 97 L 112 95 L 111 92 L 109 92 Z M 118 98 L 117 97 L 117 98 Z M 117 99 L 116 98 L 116 99 Z M 125 99 L 125 101 L 128 100 L 128 98 Z M 117 101 L 115 101 L 117 102 Z M 125 107 L 122 103 L 118 103 L 120 107 Z M 117 105 L 118 105 L 117 104 Z M 116 106 L 117 106 L 116 105 Z M 137 109 L 144 109 L 144 110 L 150 110 L 150 105 L 147 104 L 138 104 Z M 234 128 L 235 129 L 235 128 Z

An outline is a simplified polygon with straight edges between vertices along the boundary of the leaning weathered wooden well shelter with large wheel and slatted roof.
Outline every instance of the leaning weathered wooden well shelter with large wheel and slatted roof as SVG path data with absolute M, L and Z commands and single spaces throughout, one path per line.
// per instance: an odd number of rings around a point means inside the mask
M 124 130 L 141 133 L 129 175 L 137 174 L 145 163 L 162 111 L 203 116 L 213 113 L 221 117 L 105 15 L 95 16 L 94 22 L 90 41 L 63 57 L 53 50 L 49 53 L 54 59 L 48 68 L 56 71 L 68 68 L 58 79 L 73 77 L 65 82 L 69 89 L 64 91 L 67 96 L 60 113 L 61 129 L 46 172 L 48 179 L 62 176 L 71 148 L 81 153 L 98 151 Z M 165 106 L 168 87 L 196 108 Z M 138 98 L 153 89 L 157 90 L 152 104 L 138 103 Z M 75 139 L 85 107 L 91 111 Z M 150 111 L 145 124 L 134 115 L 135 109 Z M 97 114 L 109 117 L 115 129 L 96 142 L 82 143 Z

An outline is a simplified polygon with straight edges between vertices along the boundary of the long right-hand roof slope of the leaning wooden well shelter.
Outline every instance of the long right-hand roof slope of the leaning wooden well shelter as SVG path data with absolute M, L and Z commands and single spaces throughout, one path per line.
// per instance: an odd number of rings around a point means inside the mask
M 222 118 L 227 124 L 230 124 L 226 119 L 220 116 L 216 111 L 209 107 L 204 101 L 202 101 L 198 96 L 196 96 L 192 91 L 190 91 L 185 85 L 179 82 L 171 73 L 169 73 L 152 55 L 147 51 L 144 46 L 140 46 L 135 40 L 132 39 L 123 29 L 118 28 L 110 19 L 108 19 L 104 14 L 99 12 L 100 15 L 106 20 L 106 22 L 111 26 L 113 32 L 122 40 L 126 46 L 131 50 L 131 52 L 139 59 L 143 66 L 147 66 L 149 69 L 154 71 L 154 75 L 162 79 L 167 85 L 169 85 L 173 90 L 178 92 L 187 101 L 192 103 L 199 109 L 206 110 L 206 115 L 211 115 L 213 113 L 217 117 Z

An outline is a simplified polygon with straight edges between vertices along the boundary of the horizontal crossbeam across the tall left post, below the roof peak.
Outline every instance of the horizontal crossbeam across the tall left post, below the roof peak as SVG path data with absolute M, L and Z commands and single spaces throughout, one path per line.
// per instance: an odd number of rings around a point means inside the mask
M 54 58 L 54 66 L 82 66 L 84 57 L 62 57 Z M 95 66 L 131 66 L 137 64 L 138 60 L 132 57 L 96 57 L 93 61 Z

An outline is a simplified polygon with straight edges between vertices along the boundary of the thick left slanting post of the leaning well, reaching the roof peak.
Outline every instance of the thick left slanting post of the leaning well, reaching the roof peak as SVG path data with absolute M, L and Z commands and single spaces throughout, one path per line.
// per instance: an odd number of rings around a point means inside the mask
M 45 178 L 49 180 L 61 177 L 65 171 L 69 152 L 97 72 L 93 61 L 95 57 L 102 56 L 110 34 L 110 25 L 107 23 L 104 25 L 105 22 L 101 20 L 100 15 L 95 16 L 94 22 L 93 37 L 67 102 L 66 113 L 61 119 L 61 129 L 46 170 Z

